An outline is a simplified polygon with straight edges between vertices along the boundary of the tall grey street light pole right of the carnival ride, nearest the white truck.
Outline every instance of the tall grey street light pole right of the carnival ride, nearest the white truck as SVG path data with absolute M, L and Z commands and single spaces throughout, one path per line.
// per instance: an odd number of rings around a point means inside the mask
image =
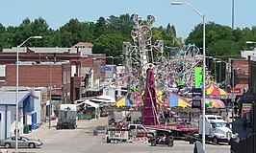
M 171 5 L 183 5 L 186 4 L 189 7 L 192 8 L 193 11 L 195 11 L 199 16 L 203 19 L 203 136 L 202 136 L 202 142 L 203 142 L 203 149 L 205 150 L 205 15 L 201 12 L 197 11 L 195 8 L 192 7 L 190 3 L 187 2 L 171 2 Z

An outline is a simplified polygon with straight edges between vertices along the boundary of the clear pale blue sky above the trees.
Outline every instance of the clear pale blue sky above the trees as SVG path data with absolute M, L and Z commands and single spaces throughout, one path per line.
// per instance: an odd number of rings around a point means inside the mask
M 0 23 L 5 27 L 18 26 L 26 17 L 34 20 L 41 16 L 50 28 L 56 30 L 71 18 L 96 22 L 100 16 L 108 18 L 110 15 L 138 13 L 145 19 L 148 14 L 153 14 L 155 27 L 166 27 L 170 23 L 175 26 L 177 36 L 185 38 L 194 26 L 202 23 L 202 18 L 189 6 L 172 6 L 170 2 L 172 0 L 1 0 Z M 231 27 L 232 0 L 186 2 L 205 14 L 206 22 L 214 21 Z M 255 7 L 256 0 L 235 0 L 234 27 L 256 26 Z

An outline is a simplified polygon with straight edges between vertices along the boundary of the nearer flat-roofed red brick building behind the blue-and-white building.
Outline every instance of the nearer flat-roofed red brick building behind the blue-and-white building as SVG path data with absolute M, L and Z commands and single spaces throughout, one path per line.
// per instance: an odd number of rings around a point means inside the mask
M 5 86 L 16 85 L 16 65 L 6 65 Z M 19 65 L 19 86 L 50 87 L 52 95 L 60 95 L 64 103 L 70 103 L 71 65 L 69 62 L 21 62 Z M 79 86 L 78 86 L 79 88 Z

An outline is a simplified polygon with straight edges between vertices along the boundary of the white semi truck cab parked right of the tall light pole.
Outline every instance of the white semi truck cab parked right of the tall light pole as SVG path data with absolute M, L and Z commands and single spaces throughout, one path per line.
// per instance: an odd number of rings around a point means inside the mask
M 199 135 L 203 133 L 203 118 L 199 119 Z M 205 136 L 206 140 L 214 142 L 229 142 L 234 138 L 228 122 L 223 120 L 220 116 L 205 115 Z

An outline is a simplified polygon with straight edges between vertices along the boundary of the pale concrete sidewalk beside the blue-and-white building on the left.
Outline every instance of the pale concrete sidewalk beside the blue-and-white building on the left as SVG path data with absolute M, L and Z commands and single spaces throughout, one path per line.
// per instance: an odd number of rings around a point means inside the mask
M 56 132 L 56 125 L 58 120 L 51 120 L 51 128 L 49 122 L 42 123 L 36 130 L 32 130 L 29 134 L 22 134 L 33 140 L 44 140 L 46 137 Z

